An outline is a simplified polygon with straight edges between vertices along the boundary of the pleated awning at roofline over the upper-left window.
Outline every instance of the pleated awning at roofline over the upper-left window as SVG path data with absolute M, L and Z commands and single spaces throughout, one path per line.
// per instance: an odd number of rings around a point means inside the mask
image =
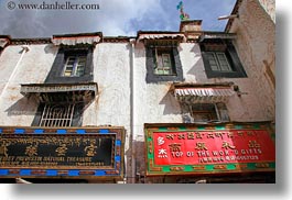
M 54 45 L 76 45 L 76 44 L 95 44 L 100 41 L 100 36 L 73 36 L 73 37 L 53 37 Z

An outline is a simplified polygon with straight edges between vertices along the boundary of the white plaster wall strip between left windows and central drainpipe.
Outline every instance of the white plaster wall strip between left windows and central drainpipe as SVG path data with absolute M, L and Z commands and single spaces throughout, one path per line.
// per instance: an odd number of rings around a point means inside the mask
M 130 65 L 127 43 L 101 43 L 94 52 L 98 97 L 85 111 L 84 125 L 122 125 L 130 121 Z

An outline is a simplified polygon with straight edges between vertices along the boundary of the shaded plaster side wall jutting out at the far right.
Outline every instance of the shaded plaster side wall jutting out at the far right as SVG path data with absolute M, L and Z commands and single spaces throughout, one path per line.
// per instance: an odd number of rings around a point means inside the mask
M 268 2 L 268 1 L 267 1 Z M 275 25 L 257 1 L 242 1 L 230 32 L 266 120 L 275 118 Z M 272 78 L 271 78 L 272 77 Z

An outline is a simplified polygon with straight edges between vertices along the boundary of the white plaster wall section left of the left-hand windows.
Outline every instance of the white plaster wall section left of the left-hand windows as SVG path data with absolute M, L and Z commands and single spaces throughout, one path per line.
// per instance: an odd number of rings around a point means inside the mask
M 0 98 L 1 125 L 31 125 L 37 103 L 20 93 L 21 84 L 43 82 L 57 53 L 57 48 L 50 44 L 29 45 L 29 48 L 13 75 L 21 58 L 21 45 L 8 46 L 1 54 L 1 88 L 7 85 Z

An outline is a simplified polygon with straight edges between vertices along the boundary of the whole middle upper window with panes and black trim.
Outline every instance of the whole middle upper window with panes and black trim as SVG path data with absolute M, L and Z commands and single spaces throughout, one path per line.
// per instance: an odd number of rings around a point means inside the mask
M 177 45 L 147 45 L 147 82 L 183 81 Z

